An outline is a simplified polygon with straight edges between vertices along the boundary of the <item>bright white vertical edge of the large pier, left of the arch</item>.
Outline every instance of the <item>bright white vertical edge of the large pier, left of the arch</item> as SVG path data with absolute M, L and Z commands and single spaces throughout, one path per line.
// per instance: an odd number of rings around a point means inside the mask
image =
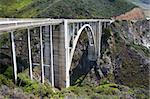
M 64 32 L 65 32 L 65 55 L 66 55 L 66 87 L 70 86 L 70 76 L 69 76 L 69 68 L 70 68 L 70 55 L 69 55 L 69 34 L 68 34 L 68 22 L 64 20 Z

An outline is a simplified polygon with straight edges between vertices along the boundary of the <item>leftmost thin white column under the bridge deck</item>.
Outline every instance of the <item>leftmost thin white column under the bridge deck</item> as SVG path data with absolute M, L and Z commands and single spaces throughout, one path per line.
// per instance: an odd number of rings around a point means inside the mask
M 12 45 L 12 54 L 13 54 L 13 65 L 14 65 L 14 81 L 17 83 L 17 62 L 16 62 L 16 51 L 15 51 L 15 42 L 14 42 L 14 33 L 11 31 L 11 45 Z

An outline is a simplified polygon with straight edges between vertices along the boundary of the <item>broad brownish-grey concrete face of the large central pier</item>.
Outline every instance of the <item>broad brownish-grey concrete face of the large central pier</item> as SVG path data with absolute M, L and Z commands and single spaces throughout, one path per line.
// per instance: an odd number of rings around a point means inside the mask
M 54 85 L 62 88 L 66 85 L 65 74 L 65 35 L 64 25 L 60 24 L 53 29 L 53 49 L 54 49 Z

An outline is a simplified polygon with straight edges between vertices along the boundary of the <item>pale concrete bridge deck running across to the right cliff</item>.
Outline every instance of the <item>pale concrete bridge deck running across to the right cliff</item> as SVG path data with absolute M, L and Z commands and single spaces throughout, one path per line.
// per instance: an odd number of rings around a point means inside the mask
M 35 19 L 7 19 L 0 18 L 0 34 L 6 31 L 12 31 L 17 29 L 32 28 L 46 25 L 57 25 L 67 20 L 68 23 L 79 22 L 110 22 L 111 19 L 50 19 L 50 18 L 35 18 Z

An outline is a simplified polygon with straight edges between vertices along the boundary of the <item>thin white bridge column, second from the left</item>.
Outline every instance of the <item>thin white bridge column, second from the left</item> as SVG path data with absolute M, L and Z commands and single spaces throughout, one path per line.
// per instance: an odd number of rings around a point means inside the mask
M 28 54 L 29 54 L 29 74 L 31 80 L 33 79 L 32 76 L 32 55 L 31 55 L 31 41 L 30 41 L 30 29 L 28 28 Z

